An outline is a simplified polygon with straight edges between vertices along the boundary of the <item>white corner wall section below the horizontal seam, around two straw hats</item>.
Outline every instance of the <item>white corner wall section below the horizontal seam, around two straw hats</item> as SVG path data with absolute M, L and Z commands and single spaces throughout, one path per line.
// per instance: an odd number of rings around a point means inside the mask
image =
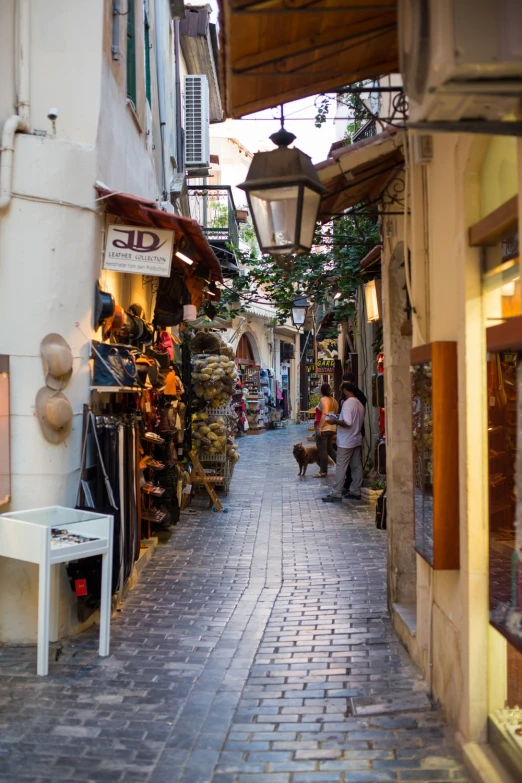
M 95 170 L 92 147 L 35 136 L 16 139 L 13 187 L 28 198 L 15 197 L 0 221 L 0 309 L 4 324 L 10 324 L 1 330 L 0 353 L 10 355 L 11 366 L 13 499 L 3 511 L 75 503 L 82 409 L 89 396 L 85 336 L 92 331 L 101 220 L 94 208 L 30 199 L 93 204 Z M 74 356 L 66 389 L 73 430 L 58 446 L 45 440 L 35 415 L 35 396 L 45 385 L 40 342 L 50 332 L 61 334 Z M 36 580 L 36 566 L 0 559 L 1 641 L 34 641 Z M 75 622 L 70 589 L 63 584 L 62 631 Z

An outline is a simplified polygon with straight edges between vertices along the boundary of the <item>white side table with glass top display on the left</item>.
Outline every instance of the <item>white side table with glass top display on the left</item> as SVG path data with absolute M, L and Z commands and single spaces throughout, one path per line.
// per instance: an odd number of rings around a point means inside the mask
M 48 674 L 49 639 L 58 638 L 58 574 L 52 566 L 59 563 L 102 556 L 99 652 L 109 654 L 113 523 L 112 516 L 62 506 L 0 515 L 0 555 L 39 566 L 37 674 Z

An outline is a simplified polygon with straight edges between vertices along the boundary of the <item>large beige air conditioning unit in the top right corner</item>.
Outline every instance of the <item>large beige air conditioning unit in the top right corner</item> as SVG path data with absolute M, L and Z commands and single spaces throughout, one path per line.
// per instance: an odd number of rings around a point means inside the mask
M 521 0 L 399 0 L 399 48 L 410 122 L 520 114 Z

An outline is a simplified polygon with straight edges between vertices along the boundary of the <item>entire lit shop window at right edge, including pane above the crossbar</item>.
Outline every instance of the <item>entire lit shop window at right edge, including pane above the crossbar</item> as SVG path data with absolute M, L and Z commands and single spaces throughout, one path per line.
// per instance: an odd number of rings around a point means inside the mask
M 522 778 L 522 299 L 518 237 L 483 249 L 487 344 L 489 740 Z

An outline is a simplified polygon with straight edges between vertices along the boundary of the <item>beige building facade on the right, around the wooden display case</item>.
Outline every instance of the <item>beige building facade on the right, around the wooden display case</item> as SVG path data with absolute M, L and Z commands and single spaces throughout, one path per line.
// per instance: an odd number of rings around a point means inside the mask
M 491 622 L 499 548 L 492 487 L 501 479 L 494 478 L 491 465 L 488 469 L 488 457 L 496 451 L 487 330 L 520 312 L 519 261 L 515 251 L 507 270 L 505 262 L 501 269 L 499 251 L 498 261 L 488 262 L 501 242 L 502 226 L 484 240 L 484 247 L 471 246 L 470 228 L 495 221 L 495 216 L 500 221 L 499 210 L 513 204 L 521 183 L 522 145 L 509 136 L 433 134 L 431 161 L 416 165 L 414 143 L 410 133 L 405 139 L 404 217 L 383 223 L 390 604 L 395 628 L 458 731 L 469 763 L 484 780 L 507 780 L 502 777 L 507 773 L 495 771 L 497 757 L 488 743 L 495 745 L 497 710 L 519 704 L 520 653 L 513 638 Z M 519 212 L 516 217 L 519 222 Z M 516 232 L 516 222 L 511 218 L 508 237 Z M 404 247 L 411 259 L 407 288 L 412 337 L 401 334 L 397 299 L 404 279 Z M 515 308 L 509 314 L 501 311 L 505 296 L 512 297 Z M 437 433 L 434 428 L 433 439 L 456 436 L 458 514 L 445 520 L 445 546 L 457 548 L 458 569 L 431 567 L 429 557 L 419 554 L 415 529 L 415 423 L 404 400 L 411 397 L 410 349 L 415 355 L 420 346 L 436 343 L 455 344 L 457 355 L 458 380 L 451 391 L 446 388 L 445 404 L 449 411 L 458 399 L 458 431 L 450 432 L 448 416 L 448 430 Z M 446 372 L 451 373 L 449 366 Z M 432 383 L 433 389 L 440 383 L 435 371 Z M 450 509 L 447 498 L 438 502 Z M 513 549 L 515 536 L 507 523 L 505 527 L 502 535 Z M 508 577 L 516 578 L 516 573 Z

